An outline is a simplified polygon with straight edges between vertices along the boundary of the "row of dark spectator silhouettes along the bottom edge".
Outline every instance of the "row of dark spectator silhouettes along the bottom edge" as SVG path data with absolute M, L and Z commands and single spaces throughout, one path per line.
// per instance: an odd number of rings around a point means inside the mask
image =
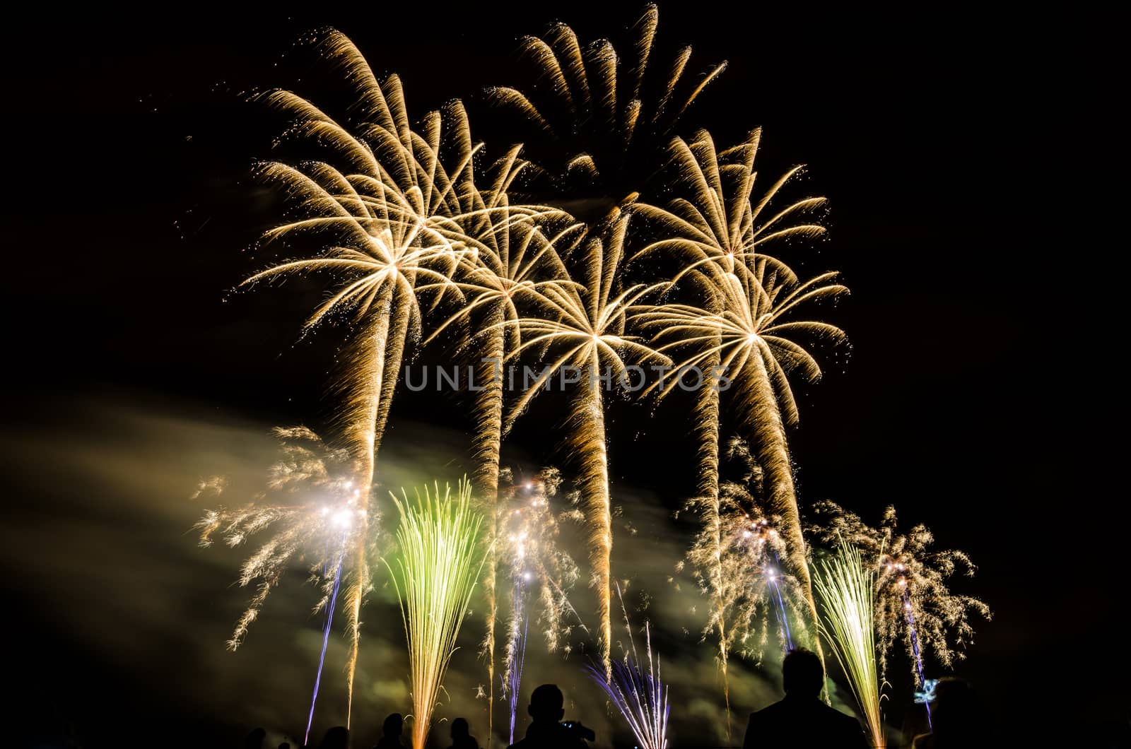
M 821 699 L 826 674 L 821 660 L 804 648 L 789 651 L 782 662 L 785 697 L 750 714 L 743 749 L 865 749 L 873 746 L 861 723 L 827 705 Z M 546 683 L 530 692 L 527 714 L 530 723 L 523 739 L 508 749 L 588 749 L 594 732 L 578 721 L 563 722 L 564 695 L 556 685 Z M 985 713 L 969 682 L 942 679 L 931 700 L 931 731 L 916 735 L 912 749 L 979 749 L 988 747 Z M 406 749 L 405 720 L 400 713 L 385 718 L 381 737 L 373 749 Z M 908 738 L 910 734 L 907 734 Z M 448 749 L 480 749 L 466 718 L 457 717 L 449 730 Z M 352 741 L 345 726 L 328 730 L 320 742 L 292 744 L 284 741 L 268 747 L 267 732 L 256 729 L 248 734 L 244 749 L 363 749 L 368 743 Z M 271 742 L 274 744 L 274 742 Z M 498 744 L 497 744 L 498 746 Z M 892 742 L 889 746 L 900 746 Z M 490 743 L 487 744 L 490 748 Z

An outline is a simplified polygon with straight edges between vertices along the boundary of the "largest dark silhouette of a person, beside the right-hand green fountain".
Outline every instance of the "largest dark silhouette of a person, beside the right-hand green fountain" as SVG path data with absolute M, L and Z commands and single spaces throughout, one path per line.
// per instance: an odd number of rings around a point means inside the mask
M 750 714 L 743 749 L 864 749 L 867 741 L 851 715 L 821 701 L 824 668 L 805 648 L 789 651 L 782 661 L 785 699 Z

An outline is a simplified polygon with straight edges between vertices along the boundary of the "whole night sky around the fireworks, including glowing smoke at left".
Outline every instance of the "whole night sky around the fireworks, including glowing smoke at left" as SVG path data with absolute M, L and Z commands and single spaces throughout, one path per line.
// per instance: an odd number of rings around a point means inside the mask
M 181 8 L 152 19 L 44 15 L 9 28 L 0 236 L 12 489 L 2 551 L 6 660 L 26 699 L 9 730 L 92 747 L 140 734 L 159 737 L 153 746 L 213 746 L 283 694 L 266 686 L 278 653 L 223 652 L 244 600 L 226 587 L 239 557 L 211 559 L 185 535 L 196 479 L 258 455 L 270 425 L 318 425 L 333 408 L 322 388 L 333 336 L 297 342 L 320 287 L 228 293 L 262 267 L 245 249 L 279 215 L 248 179 L 278 123 L 240 93 L 280 86 L 334 102 L 330 74 L 283 55 L 302 32 L 335 26 L 378 74 L 403 77 L 414 117 L 464 98 L 473 132 L 498 149 L 482 89 L 521 83 L 520 35 L 560 19 L 582 40 L 615 43 L 639 9 Z M 1115 442 L 1103 442 L 1119 437 L 1098 429 L 1114 405 L 1094 401 L 1107 402 L 1117 373 L 1099 347 L 1102 311 L 1090 309 L 1114 244 L 1060 229 L 1094 217 L 1080 210 L 1096 189 L 1080 172 L 1095 144 L 1078 132 L 1085 95 L 1067 72 L 1077 24 L 1050 34 L 1045 21 L 941 7 L 727 14 L 662 3 L 658 51 L 666 60 L 690 43 L 692 72 L 729 62 L 681 132 L 706 127 L 731 144 L 761 126 L 760 171 L 805 163 L 794 197 L 830 199 L 829 239 L 786 258 L 803 274 L 839 269 L 852 289 L 826 311 L 851 351 L 828 352 L 824 379 L 796 388 L 802 503 L 832 499 L 873 523 L 895 503 L 905 527 L 926 523 L 940 546 L 969 552 L 978 575 L 956 587 L 994 619 L 975 621 L 956 672 L 1002 735 L 1115 746 L 1099 737 L 1128 730 L 1131 704 L 1117 615 L 1125 585 L 1115 582 L 1126 510 L 1125 491 L 1103 477 L 1119 464 Z M 687 530 L 665 520 L 693 485 L 685 413 L 611 413 L 614 482 L 650 502 L 646 533 Z M 535 408 L 509 457 L 560 463 L 560 417 L 552 404 Z M 457 399 L 398 395 L 392 423 L 392 454 L 446 440 L 438 454 L 461 473 L 467 416 Z M 150 485 L 159 520 L 145 511 Z M 193 554 L 209 558 L 211 574 L 187 580 L 175 560 Z M 199 610 L 211 615 L 187 613 Z M 131 632 L 157 620 L 159 631 Z M 215 643 L 211 671 L 193 668 L 179 621 Z M 269 631 L 266 614 L 260 625 Z M 310 671 L 301 658 L 278 677 L 294 673 L 300 695 Z M 200 675 L 226 663 L 262 681 Z M 201 696 L 217 690 L 228 690 L 215 703 L 226 712 L 202 713 Z M 905 692 L 889 714 L 903 714 Z

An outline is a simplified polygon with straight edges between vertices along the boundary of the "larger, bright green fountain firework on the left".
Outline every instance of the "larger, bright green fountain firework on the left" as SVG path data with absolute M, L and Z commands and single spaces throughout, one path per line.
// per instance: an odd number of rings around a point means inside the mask
M 472 485 L 459 482 L 456 493 L 439 483 L 409 501 L 402 490 L 392 501 L 400 513 L 399 553 L 386 566 L 400 600 L 408 639 L 413 689 L 413 749 L 424 749 L 432 708 L 456 649 L 456 636 L 467 612 L 483 565 L 482 518 L 472 509 Z

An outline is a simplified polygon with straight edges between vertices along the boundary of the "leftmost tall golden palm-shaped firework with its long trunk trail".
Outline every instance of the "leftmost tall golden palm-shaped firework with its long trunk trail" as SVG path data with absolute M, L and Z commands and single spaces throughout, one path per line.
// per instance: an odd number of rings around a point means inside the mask
M 477 147 L 461 105 L 429 113 L 413 130 L 399 78 L 378 83 L 361 52 L 338 32 L 318 35 L 313 43 L 319 59 L 336 68 L 353 91 L 349 121 L 342 124 L 286 91 L 253 98 L 292 122 L 276 145 L 309 141 L 327 154 L 327 161 L 260 166 L 259 175 L 282 187 L 300 214 L 267 232 L 264 241 L 314 242 L 318 250 L 314 257 L 278 264 L 245 283 L 303 274 L 331 278 L 331 295 L 307 328 L 331 317 L 351 320 L 348 355 L 337 386 L 345 395 L 340 420 L 368 503 L 406 342 L 420 336 L 417 296 L 437 292 L 437 303 L 449 294 L 461 296 L 450 276 L 473 250 L 452 235 L 460 225 L 454 217 L 482 214 L 487 207 L 477 201 L 474 189 Z M 347 715 L 361 606 L 370 586 L 364 531 L 357 533 L 346 589 L 352 634 Z

